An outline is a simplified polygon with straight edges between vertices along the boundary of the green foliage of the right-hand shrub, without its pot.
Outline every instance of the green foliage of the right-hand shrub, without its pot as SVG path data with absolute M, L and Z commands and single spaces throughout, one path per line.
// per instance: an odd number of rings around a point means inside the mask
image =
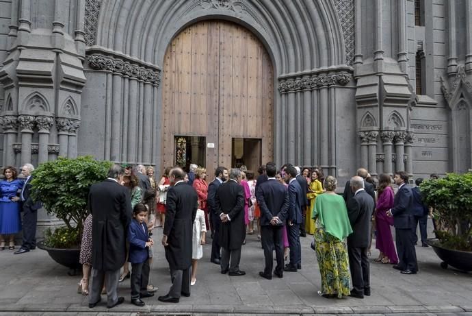
M 472 173 L 448 173 L 420 186 L 423 199 L 434 208 L 439 241 L 448 248 L 472 251 Z

